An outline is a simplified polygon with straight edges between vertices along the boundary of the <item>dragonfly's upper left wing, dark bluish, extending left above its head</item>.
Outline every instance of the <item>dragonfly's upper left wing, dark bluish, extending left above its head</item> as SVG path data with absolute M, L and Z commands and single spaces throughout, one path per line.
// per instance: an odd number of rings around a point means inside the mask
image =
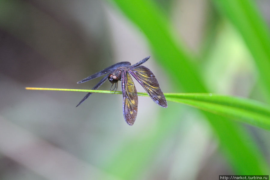
M 116 70 L 118 67 L 128 67 L 128 66 L 130 66 L 130 65 L 131 65 L 130 62 L 127 62 L 127 61 L 125 61 L 125 62 L 119 62 L 119 63 L 113 64 L 113 65 L 111 65 L 110 67 L 105 68 L 104 70 L 101 70 L 101 71 L 99 71 L 99 72 L 97 72 L 97 73 L 95 73 L 95 74 L 93 74 L 93 75 L 91 75 L 91 76 L 88 76 L 88 77 L 86 77 L 86 78 L 84 78 L 84 79 L 78 81 L 77 83 L 80 84 L 80 83 L 89 81 L 89 80 L 91 80 L 91 79 L 95 79 L 95 78 L 97 78 L 97 77 L 99 77 L 99 76 L 102 76 L 102 75 L 104 75 L 104 74 L 113 72 L 113 71 Z

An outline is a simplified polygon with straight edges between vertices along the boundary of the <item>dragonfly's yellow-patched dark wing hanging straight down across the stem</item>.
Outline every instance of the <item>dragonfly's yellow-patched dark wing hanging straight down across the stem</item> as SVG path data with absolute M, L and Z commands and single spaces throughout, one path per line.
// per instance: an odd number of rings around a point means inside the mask
M 137 117 L 138 95 L 134 82 L 127 70 L 122 72 L 123 114 L 128 125 L 132 126 Z

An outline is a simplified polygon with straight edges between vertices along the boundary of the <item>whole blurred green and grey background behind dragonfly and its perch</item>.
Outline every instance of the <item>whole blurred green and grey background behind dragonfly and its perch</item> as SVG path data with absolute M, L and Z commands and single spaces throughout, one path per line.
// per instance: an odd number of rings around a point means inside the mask
M 243 19 L 268 30 L 270 1 L 246 2 L 246 12 L 250 3 L 259 16 Z M 136 122 L 128 126 L 122 95 L 93 94 L 75 108 L 86 93 L 25 90 L 91 89 L 100 79 L 76 82 L 117 62 L 134 64 L 151 55 L 143 65 L 163 92 L 208 91 L 269 104 L 267 77 L 253 51 L 259 45 L 251 46 L 245 27 L 229 11 L 237 7 L 225 5 L 0 0 L 0 179 L 218 179 L 268 173 L 268 131 L 173 102 L 164 109 L 147 97 L 139 97 Z M 259 54 L 269 55 L 264 50 Z

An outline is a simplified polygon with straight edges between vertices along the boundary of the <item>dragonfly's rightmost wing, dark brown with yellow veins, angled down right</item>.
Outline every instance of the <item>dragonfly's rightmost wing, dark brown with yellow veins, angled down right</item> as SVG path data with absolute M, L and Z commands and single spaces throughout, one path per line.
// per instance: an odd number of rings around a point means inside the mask
M 161 107 L 168 107 L 155 75 L 145 66 L 137 66 L 129 70 L 132 76 L 143 86 L 152 100 Z

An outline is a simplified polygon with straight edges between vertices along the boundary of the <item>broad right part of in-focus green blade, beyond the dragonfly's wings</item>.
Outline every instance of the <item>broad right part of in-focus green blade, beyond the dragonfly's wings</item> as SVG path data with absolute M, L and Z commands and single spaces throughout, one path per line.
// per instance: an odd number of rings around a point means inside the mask
M 187 104 L 201 110 L 233 118 L 239 122 L 270 130 L 270 106 L 258 101 L 203 93 L 167 93 L 165 96 L 167 101 Z

